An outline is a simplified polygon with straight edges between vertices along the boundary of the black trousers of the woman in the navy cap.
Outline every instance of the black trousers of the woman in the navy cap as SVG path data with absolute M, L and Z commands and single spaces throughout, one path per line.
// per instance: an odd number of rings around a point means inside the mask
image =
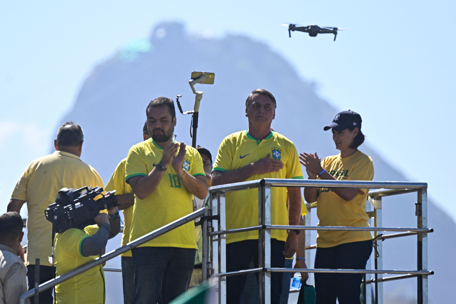
M 316 247 L 315 268 L 366 269 L 372 240 Z M 316 304 L 360 303 L 362 273 L 315 273 Z

